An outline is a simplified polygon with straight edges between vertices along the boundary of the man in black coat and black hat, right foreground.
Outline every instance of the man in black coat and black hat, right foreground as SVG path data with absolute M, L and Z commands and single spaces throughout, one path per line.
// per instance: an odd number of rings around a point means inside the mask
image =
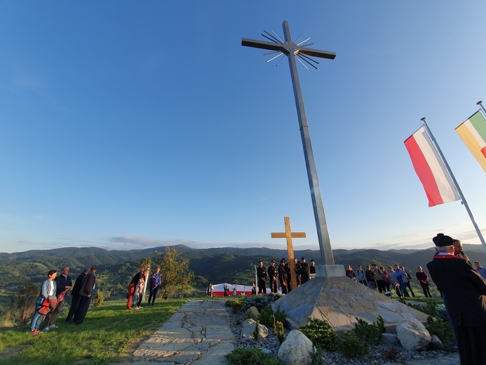
M 428 273 L 443 293 L 461 364 L 486 364 L 486 280 L 454 255 L 452 242 L 443 233 L 433 238 L 438 254 L 427 264 Z

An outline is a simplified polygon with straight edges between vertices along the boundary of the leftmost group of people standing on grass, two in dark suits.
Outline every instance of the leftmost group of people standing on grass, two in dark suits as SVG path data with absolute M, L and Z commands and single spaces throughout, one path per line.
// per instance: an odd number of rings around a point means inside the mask
M 59 276 L 57 270 L 50 270 L 47 279 L 41 284 L 41 291 L 35 303 L 34 317 L 30 323 L 30 333 L 36 335 L 58 328 L 55 321 L 58 319 L 65 296 L 69 291 L 71 291 L 72 302 L 66 321 L 82 324 L 93 296 L 97 268 L 96 265 L 93 265 L 90 269 L 84 269 L 76 277 L 74 286 L 69 276 L 69 267 L 62 267 Z M 42 331 L 41 324 L 43 324 Z

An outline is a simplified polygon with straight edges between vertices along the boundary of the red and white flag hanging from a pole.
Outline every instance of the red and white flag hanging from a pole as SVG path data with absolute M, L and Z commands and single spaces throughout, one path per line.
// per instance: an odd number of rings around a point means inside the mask
M 438 152 L 428 138 L 424 126 L 405 140 L 415 172 L 424 186 L 428 206 L 459 200 L 454 183 L 440 159 Z

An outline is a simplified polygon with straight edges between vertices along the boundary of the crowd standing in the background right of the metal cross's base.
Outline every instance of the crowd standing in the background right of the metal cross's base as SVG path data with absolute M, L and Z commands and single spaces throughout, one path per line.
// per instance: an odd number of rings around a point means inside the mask
M 432 298 L 430 286 L 428 284 L 428 277 L 426 272 L 422 270 L 422 267 L 417 267 L 415 276 L 421 285 L 424 295 Z M 358 269 L 355 271 L 348 265 L 346 269 L 346 277 L 359 281 L 361 284 L 368 286 L 374 290 L 378 290 L 380 293 L 389 293 L 391 289 L 396 291 L 397 296 L 401 297 L 415 297 L 415 293 L 410 285 L 412 276 L 405 270 L 405 267 L 395 265 L 395 267 L 378 267 L 377 264 L 367 265 L 366 270 L 363 270 L 362 265 L 358 265 Z M 410 293 L 409 293 L 410 291 Z

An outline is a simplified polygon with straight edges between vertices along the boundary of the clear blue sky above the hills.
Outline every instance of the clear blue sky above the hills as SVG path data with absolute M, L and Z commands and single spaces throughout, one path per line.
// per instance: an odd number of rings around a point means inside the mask
M 273 29 L 337 53 L 299 67 L 332 248 L 479 243 L 428 208 L 403 141 L 427 117 L 486 230 L 454 128 L 485 100 L 486 2 L 1 1 L 0 251 L 187 244 L 318 249 L 288 62 Z M 486 231 L 485 231 L 486 232 Z

